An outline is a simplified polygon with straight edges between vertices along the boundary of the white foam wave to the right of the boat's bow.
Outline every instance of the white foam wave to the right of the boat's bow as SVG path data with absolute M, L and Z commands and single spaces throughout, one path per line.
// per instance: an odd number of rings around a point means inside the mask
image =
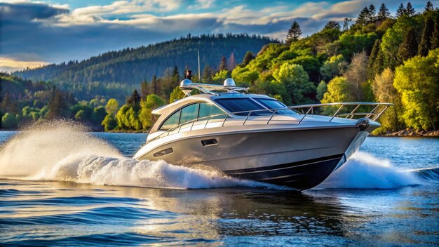
M 356 152 L 317 188 L 324 189 L 393 189 L 424 184 L 414 173 L 393 166 L 390 161 Z

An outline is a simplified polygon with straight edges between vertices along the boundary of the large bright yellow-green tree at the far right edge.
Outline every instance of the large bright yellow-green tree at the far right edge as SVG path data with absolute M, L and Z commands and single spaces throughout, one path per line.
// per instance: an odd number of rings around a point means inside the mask
M 413 128 L 436 129 L 439 123 L 439 49 L 396 68 L 393 85 L 401 94 L 403 118 Z

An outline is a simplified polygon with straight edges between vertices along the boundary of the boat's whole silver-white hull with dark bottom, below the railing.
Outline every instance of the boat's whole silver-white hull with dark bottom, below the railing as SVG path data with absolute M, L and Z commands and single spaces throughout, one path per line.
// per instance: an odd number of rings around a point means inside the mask
M 216 133 L 210 128 L 177 133 L 178 138 L 149 142 L 137 159 L 159 160 L 180 166 L 213 168 L 236 178 L 269 182 L 303 190 L 323 182 L 339 168 L 377 126 L 358 131 L 337 128 L 239 127 Z M 198 132 L 198 133 L 197 133 Z

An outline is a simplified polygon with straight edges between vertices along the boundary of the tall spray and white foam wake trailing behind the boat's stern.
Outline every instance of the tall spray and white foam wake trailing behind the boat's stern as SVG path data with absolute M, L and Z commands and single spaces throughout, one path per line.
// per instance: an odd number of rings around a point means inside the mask
M 0 150 L 0 178 L 60 180 L 95 185 L 198 189 L 268 187 L 217 171 L 173 166 L 165 161 L 124 158 L 107 142 L 93 137 L 78 123 L 56 121 L 32 126 Z

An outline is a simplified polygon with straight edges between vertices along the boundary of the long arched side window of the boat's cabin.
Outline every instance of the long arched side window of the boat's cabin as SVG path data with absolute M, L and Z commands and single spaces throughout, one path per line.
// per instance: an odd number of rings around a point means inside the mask
M 199 119 L 205 116 L 212 116 L 217 114 L 224 114 L 222 109 L 219 109 L 215 105 L 208 102 L 195 103 L 187 105 L 182 109 L 179 109 L 174 114 L 170 115 L 166 121 L 164 121 L 160 127 L 161 130 L 167 131 L 171 128 L 177 127 L 179 124 L 189 122 L 194 119 Z M 214 116 L 211 119 L 220 119 L 225 116 Z M 207 120 L 201 119 L 200 121 Z

